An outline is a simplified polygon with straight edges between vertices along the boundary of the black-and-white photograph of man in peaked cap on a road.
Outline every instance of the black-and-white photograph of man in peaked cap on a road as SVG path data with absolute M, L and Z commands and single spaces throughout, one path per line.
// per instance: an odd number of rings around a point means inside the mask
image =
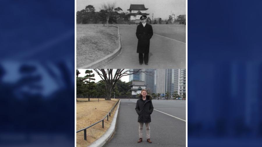
M 77 69 L 186 68 L 186 0 L 77 0 Z

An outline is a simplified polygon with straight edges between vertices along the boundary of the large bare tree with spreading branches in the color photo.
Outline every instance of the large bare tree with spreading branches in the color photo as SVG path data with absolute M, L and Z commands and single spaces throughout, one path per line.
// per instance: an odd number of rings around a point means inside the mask
M 100 78 L 105 82 L 105 93 L 106 100 L 111 100 L 111 93 L 116 85 L 116 82 L 123 76 L 128 76 L 134 73 L 141 72 L 141 69 L 137 71 L 130 71 L 126 69 L 94 69 L 94 71 L 100 76 Z

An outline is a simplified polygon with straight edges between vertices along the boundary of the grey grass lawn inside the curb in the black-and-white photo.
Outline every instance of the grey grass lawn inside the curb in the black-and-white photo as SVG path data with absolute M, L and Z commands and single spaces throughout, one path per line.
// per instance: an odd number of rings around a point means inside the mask
M 102 24 L 77 24 L 77 67 L 95 62 L 119 47 L 118 28 Z

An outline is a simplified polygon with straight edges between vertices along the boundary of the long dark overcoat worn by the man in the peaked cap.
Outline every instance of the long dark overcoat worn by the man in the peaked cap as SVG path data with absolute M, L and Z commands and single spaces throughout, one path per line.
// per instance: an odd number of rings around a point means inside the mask
M 137 53 L 149 53 L 150 39 L 153 36 L 153 29 L 150 24 L 143 24 L 137 26 Z

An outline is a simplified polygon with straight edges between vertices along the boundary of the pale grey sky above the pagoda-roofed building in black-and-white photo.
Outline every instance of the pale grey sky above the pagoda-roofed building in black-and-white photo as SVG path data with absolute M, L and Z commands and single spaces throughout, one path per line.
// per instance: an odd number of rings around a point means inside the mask
M 103 3 L 113 3 L 116 2 L 116 7 L 123 9 L 121 12 L 128 12 L 127 9 L 130 8 L 130 4 L 144 4 L 149 13 L 147 17 L 152 19 L 152 14 L 154 13 L 154 18 L 168 19 L 171 12 L 178 15 L 186 14 L 186 0 L 77 0 L 77 11 L 85 9 L 86 6 L 92 5 L 95 7 L 95 12 L 99 12 L 102 8 Z

